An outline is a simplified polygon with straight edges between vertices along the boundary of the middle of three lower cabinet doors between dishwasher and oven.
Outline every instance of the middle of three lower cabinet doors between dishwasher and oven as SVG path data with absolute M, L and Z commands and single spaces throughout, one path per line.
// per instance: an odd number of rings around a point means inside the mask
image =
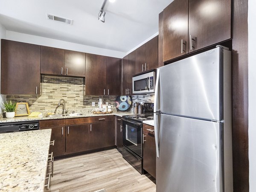
M 66 154 L 88 149 L 88 124 L 66 126 Z

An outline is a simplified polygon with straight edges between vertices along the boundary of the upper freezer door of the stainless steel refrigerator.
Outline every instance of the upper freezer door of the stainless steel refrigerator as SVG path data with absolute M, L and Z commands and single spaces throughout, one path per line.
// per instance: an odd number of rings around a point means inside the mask
M 199 119 L 223 119 L 223 48 L 159 68 L 160 111 Z

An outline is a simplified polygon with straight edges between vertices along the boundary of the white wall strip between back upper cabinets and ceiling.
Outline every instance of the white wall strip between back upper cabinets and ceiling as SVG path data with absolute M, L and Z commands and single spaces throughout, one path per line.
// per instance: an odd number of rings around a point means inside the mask
M 6 31 L 6 39 L 13 41 L 20 41 L 29 44 L 44 45 L 49 47 L 56 47 L 61 49 L 68 49 L 73 51 L 93 53 L 97 55 L 105 55 L 110 57 L 123 58 L 126 53 L 120 51 L 114 51 L 110 49 L 102 49 L 98 47 L 91 47 L 82 44 L 75 44 L 67 41 L 61 41 L 51 38 L 44 38 L 36 35 L 28 35 L 19 32 Z

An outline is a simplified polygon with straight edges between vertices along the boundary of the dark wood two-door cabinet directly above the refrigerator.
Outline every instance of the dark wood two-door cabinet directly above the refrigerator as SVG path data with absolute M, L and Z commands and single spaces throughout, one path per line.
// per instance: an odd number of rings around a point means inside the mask
M 163 61 L 231 38 L 231 0 L 174 0 L 163 10 Z

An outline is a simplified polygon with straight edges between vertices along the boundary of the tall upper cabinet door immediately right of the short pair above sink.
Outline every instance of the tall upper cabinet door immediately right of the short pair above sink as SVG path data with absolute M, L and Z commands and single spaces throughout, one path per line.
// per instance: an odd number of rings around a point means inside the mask
M 85 94 L 100 96 L 106 92 L 106 56 L 86 53 Z

